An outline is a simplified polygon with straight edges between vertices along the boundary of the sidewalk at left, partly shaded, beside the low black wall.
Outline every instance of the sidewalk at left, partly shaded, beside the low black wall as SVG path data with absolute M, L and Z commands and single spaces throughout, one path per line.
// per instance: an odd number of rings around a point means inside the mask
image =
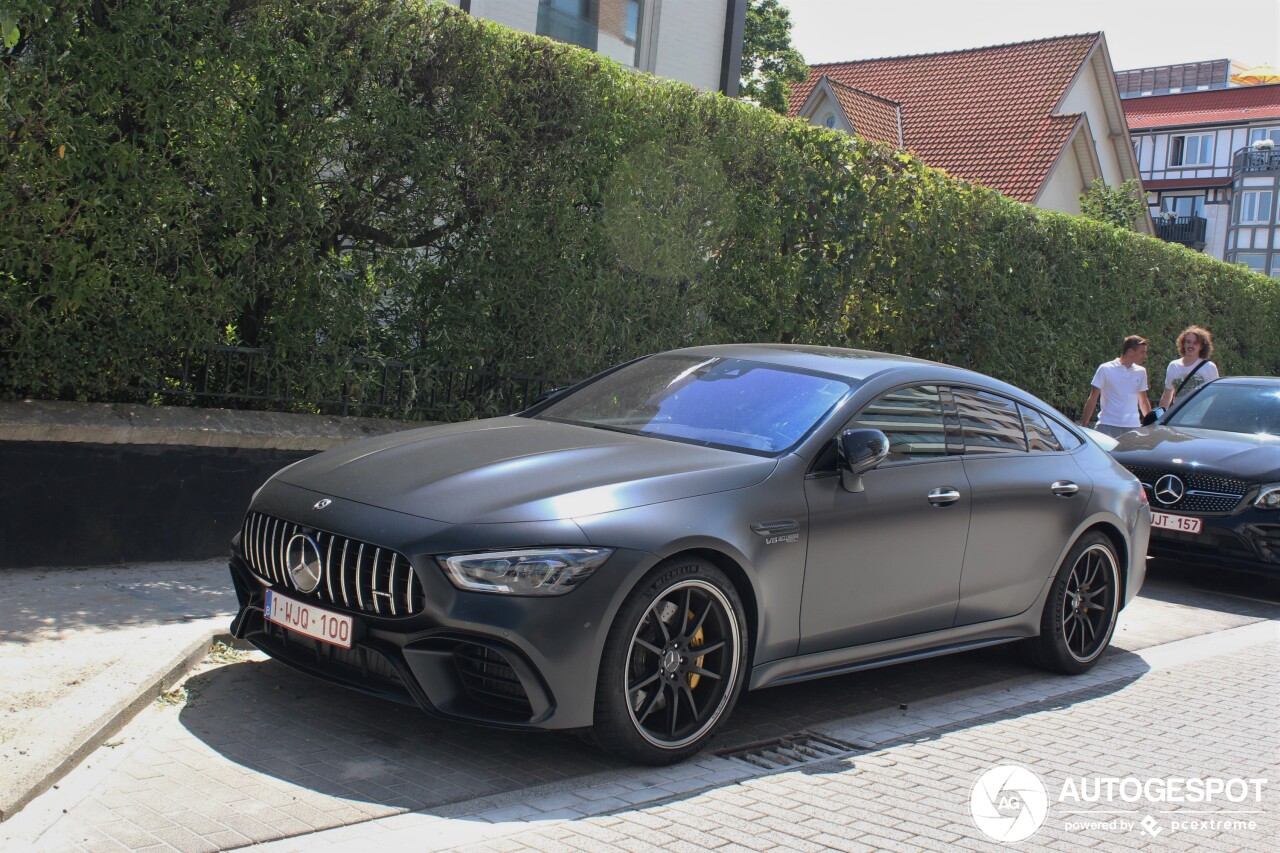
M 109 742 L 205 657 L 225 561 L 0 571 L 0 820 Z

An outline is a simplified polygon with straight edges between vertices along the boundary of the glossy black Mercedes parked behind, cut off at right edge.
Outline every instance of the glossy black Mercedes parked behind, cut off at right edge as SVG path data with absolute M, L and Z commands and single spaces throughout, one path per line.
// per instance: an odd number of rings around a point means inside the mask
M 1112 456 L 1151 498 L 1151 553 L 1280 571 L 1280 378 L 1217 379 Z

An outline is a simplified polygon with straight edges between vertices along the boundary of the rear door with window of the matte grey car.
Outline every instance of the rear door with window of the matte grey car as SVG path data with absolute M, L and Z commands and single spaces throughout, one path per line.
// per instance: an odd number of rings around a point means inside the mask
M 952 397 L 973 505 L 956 625 L 970 625 L 1036 603 L 1093 484 L 1046 415 L 978 389 Z

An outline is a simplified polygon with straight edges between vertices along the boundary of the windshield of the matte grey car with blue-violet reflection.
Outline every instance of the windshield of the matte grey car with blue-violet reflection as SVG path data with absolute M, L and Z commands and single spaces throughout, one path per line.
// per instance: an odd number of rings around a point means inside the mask
M 539 419 L 778 453 L 854 388 L 847 379 L 740 359 L 644 359 L 576 391 Z

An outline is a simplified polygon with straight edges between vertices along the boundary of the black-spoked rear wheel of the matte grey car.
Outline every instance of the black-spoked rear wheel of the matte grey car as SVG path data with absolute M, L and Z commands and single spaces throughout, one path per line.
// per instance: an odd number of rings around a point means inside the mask
M 1068 675 L 1098 662 L 1120 615 L 1119 565 L 1115 546 L 1096 530 L 1071 546 L 1044 602 L 1039 637 L 1023 643 L 1028 662 Z

